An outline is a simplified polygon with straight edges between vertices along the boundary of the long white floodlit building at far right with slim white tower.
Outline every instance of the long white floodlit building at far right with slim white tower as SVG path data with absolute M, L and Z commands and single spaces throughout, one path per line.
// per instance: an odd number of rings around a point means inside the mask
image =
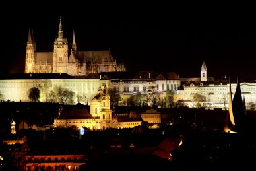
M 200 102 L 201 106 L 205 108 L 228 108 L 228 86 L 227 79 L 214 80 L 211 77 L 207 77 L 207 67 L 205 62 L 201 67 L 201 79 L 200 78 L 181 78 L 182 86 L 177 91 L 177 99 L 183 100 L 187 106 L 194 106 L 193 97 L 195 94 L 205 96 L 205 101 Z M 236 91 L 236 81 L 232 84 L 232 94 Z M 241 94 L 245 99 L 247 109 L 256 104 L 256 82 L 243 81 L 240 83 Z M 234 96 L 233 96 L 234 97 Z

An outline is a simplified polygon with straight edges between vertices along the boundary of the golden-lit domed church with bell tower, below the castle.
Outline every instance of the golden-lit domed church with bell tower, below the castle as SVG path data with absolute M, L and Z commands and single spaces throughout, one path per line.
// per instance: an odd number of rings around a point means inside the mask
M 141 125 L 141 119 L 129 116 L 112 116 L 110 96 L 107 88 L 98 88 L 98 93 L 91 101 L 90 114 L 87 110 L 70 111 L 55 118 L 53 127 L 86 127 L 90 130 L 109 128 L 133 128 Z

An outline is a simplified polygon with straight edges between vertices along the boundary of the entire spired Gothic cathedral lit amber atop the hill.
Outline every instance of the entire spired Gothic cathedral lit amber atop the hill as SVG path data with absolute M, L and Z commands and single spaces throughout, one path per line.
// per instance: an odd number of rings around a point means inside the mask
M 123 64 L 117 64 L 110 50 L 77 51 L 75 32 L 71 53 L 67 38 L 63 34 L 60 18 L 59 32 L 55 38 L 53 52 L 37 52 L 32 30 L 28 31 L 25 73 L 67 73 L 69 75 L 88 75 L 90 73 L 125 71 Z

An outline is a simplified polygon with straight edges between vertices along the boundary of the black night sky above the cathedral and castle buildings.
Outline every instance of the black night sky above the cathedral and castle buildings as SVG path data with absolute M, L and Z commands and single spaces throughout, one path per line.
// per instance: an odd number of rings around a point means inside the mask
M 12 9 L 15 15 L 2 11 L 1 73 L 24 72 L 29 27 L 34 28 L 37 50 L 53 51 L 61 15 L 69 50 L 75 29 L 78 50 L 110 48 L 128 71 L 175 71 L 180 77 L 199 77 L 205 61 L 209 76 L 236 76 L 239 71 L 255 78 L 256 31 L 247 25 L 248 18 L 130 6 L 33 5 Z

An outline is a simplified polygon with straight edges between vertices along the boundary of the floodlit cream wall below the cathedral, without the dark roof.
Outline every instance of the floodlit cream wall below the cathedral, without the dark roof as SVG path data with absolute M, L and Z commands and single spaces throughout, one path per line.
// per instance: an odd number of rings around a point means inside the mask
M 96 95 L 100 79 L 8 79 L 0 80 L 1 100 L 14 102 L 28 102 L 28 90 L 32 87 L 40 89 L 41 102 L 46 102 L 46 94 L 55 87 L 67 88 L 76 94 L 85 94 L 88 104 Z M 75 100 L 77 101 L 77 100 Z

